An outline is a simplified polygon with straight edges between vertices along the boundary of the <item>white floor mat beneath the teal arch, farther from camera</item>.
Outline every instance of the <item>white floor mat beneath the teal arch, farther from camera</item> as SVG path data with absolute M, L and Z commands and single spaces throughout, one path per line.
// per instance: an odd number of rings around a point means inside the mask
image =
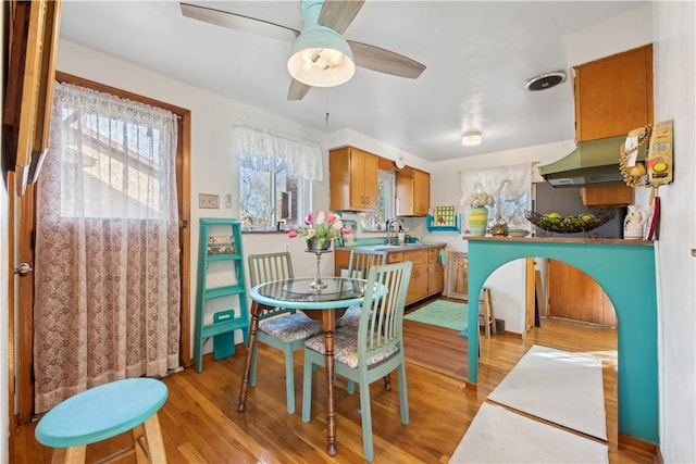
M 607 440 L 601 360 L 533 346 L 488 400 Z

